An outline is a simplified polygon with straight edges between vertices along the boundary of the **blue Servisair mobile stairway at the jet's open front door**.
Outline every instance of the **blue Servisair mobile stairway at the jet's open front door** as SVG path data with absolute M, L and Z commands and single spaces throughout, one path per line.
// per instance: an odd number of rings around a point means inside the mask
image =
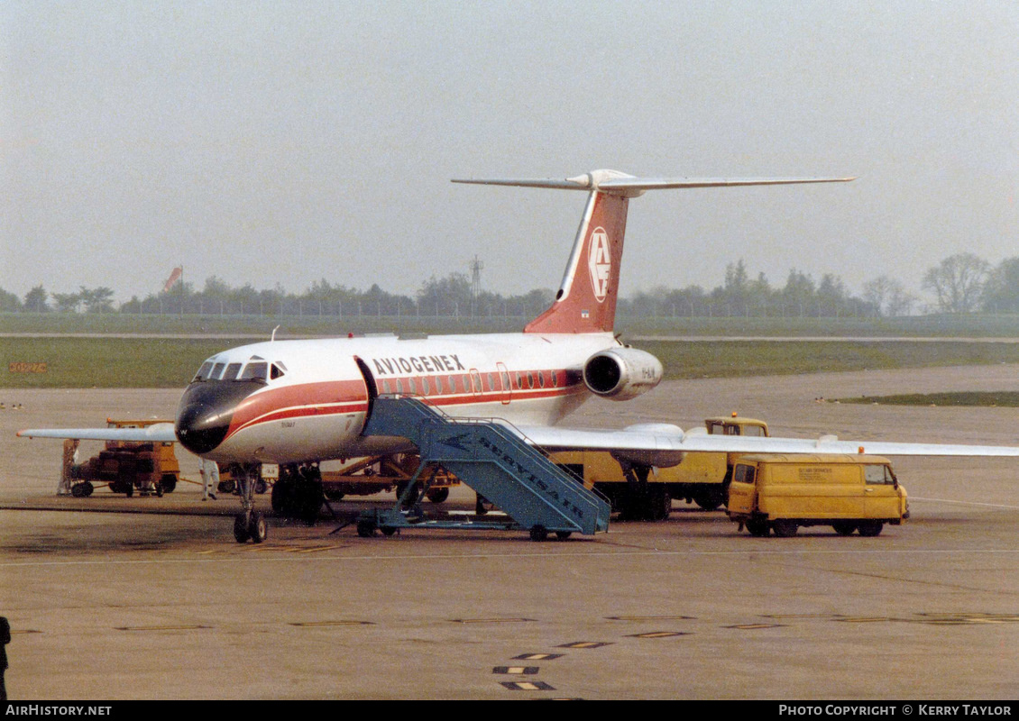
M 366 436 L 398 436 L 418 447 L 421 465 L 391 509 L 365 511 L 358 533 L 376 529 L 518 529 L 536 541 L 549 533 L 608 531 L 608 501 L 528 445 L 506 426 L 491 420 L 452 419 L 417 398 L 382 395 L 373 401 Z M 427 490 L 423 472 L 437 463 L 498 506 L 512 520 L 429 519 L 415 503 Z M 413 507 L 407 509 L 407 505 Z

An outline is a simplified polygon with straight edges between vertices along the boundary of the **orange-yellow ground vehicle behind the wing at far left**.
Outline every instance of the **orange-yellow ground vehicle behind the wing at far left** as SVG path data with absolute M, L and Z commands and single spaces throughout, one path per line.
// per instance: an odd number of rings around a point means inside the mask
M 108 428 L 146 428 L 170 421 L 106 420 Z M 172 443 L 106 441 L 105 448 L 84 463 L 65 468 L 75 498 L 91 496 L 97 486 L 128 498 L 172 493 L 180 479 L 180 464 Z

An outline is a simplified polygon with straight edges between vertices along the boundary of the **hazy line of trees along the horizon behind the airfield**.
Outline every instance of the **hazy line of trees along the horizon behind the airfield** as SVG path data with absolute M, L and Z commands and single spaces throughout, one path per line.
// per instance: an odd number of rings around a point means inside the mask
M 993 267 L 972 254 L 946 258 L 924 274 L 921 287 L 933 302 L 906 290 L 898 280 L 880 275 L 853 295 L 842 279 L 830 273 L 819 281 L 793 269 L 785 285 L 772 287 L 763 273 L 751 278 L 742 260 L 727 267 L 725 281 L 705 290 L 657 287 L 620 298 L 622 317 L 895 317 L 919 313 L 1019 313 L 1019 258 Z M 257 289 L 251 283 L 232 287 L 211 276 L 201 289 L 177 282 L 168 290 L 137 295 L 119 304 L 108 287 L 81 286 L 77 292 L 48 292 L 43 285 L 24 297 L 0 289 L 4 313 L 121 313 L 204 316 L 424 316 L 533 318 L 551 303 L 551 290 L 536 289 L 518 295 L 475 292 L 464 273 L 432 276 L 413 296 L 390 293 L 373 284 L 367 290 L 334 285 L 323 278 L 303 293 L 277 284 Z

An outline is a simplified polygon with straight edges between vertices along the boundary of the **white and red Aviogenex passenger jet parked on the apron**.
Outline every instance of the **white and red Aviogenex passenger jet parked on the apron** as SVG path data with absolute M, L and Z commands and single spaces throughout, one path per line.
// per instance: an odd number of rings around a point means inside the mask
M 614 334 L 631 200 L 647 190 L 833 183 L 852 177 L 641 178 L 595 170 L 562 179 L 453 182 L 586 191 L 587 203 L 551 306 L 521 333 L 417 339 L 340 337 L 266 341 L 216 353 L 184 389 L 172 425 L 146 429 L 34 429 L 21 437 L 179 441 L 231 466 L 240 480 L 238 542 L 266 538 L 252 488 L 261 463 L 314 485 L 317 464 L 413 450 L 407 439 L 364 435 L 373 401 L 411 395 L 453 418 L 499 418 L 545 450 L 607 450 L 631 467 L 682 461 L 688 451 L 1019 456 L 1019 447 L 709 436 L 669 424 L 619 431 L 556 424 L 592 397 L 625 401 L 653 389 L 661 363 Z M 700 431 L 700 432 L 699 432 Z M 319 493 L 321 492 L 319 483 Z M 317 498 L 317 496 L 316 496 Z M 317 506 L 316 506 L 317 511 Z

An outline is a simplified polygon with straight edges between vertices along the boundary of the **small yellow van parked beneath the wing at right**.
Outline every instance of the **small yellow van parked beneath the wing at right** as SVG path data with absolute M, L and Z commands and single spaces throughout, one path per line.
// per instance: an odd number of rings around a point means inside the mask
M 751 536 L 795 536 L 801 525 L 877 536 L 908 518 L 909 505 L 888 458 L 745 455 L 733 467 L 727 512 Z

